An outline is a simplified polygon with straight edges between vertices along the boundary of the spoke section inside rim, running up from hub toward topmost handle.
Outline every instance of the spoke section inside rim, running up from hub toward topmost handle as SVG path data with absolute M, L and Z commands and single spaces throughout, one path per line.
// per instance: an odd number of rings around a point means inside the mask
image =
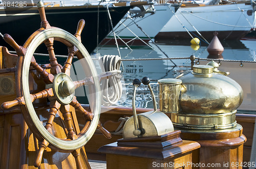
M 62 67 L 58 64 L 57 58 L 55 57 L 53 41 L 54 41 L 54 38 L 49 38 L 48 40 L 45 41 L 45 45 L 46 45 L 48 53 L 49 53 L 51 73 L 58 74 L 61 72 Z

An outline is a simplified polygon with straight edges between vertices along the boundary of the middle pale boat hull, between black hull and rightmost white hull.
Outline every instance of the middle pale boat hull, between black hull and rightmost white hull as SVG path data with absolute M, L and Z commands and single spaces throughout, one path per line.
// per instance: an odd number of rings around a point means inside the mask
M 108 37 L 101 44 L 115 43 L 116 34 L 118 44 L 144 44 L 153 39 L 162 27 L 172 18 L 179 5 L 157 4 L 131 9 L 122 18 Z M 142 12 L 141 12 L 142 11 Z

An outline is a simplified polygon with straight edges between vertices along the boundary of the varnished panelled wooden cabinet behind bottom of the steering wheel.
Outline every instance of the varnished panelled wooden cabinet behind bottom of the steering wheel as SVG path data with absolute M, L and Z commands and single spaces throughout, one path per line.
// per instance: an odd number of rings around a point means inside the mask
M 46 110 L 41 110 L 41 117 L 46 117 Z M 55 131 L 60 131 L 58 136 L 66 137 L 60 118 L 54 122 Z M 62 131 L 61 131 L 61 130 Z M 79 128 L 78 128 L 79 130 Z M 34 160 L 38 149 L 38 140 L 28 129 L 22 114 L 12 113 L 0 115 L 0 168 L 35 168 Z M 86 163 L 86 153 L 81 149 L 82 166 L 89 168 Z M 76 168 L 75 158 L 71 153 L 60 153 L 46 148 L 40 168 Z

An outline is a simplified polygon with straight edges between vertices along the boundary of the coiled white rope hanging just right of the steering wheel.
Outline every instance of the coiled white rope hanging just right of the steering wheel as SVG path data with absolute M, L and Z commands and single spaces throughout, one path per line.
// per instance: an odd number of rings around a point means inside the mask
M 122 95 L 122 76 L 120 74 L 121 58 L 118 55 L 104 55 L 100 59 L 102 61 L 102 64 L 100 64 L 102 71 L 117 71 L 116 75 L 101 80 L 102 105 L 110 106 L 116 104 Z

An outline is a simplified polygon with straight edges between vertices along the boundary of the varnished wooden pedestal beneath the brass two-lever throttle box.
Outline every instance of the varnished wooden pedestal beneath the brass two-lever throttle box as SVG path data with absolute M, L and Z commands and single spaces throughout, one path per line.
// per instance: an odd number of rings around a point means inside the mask
M 107 168 L 191 168 L 192 152 L 200 148 L 197 142 L 182 140 L 180 131 L 169 134 L 119 139 L 102 146 Z

